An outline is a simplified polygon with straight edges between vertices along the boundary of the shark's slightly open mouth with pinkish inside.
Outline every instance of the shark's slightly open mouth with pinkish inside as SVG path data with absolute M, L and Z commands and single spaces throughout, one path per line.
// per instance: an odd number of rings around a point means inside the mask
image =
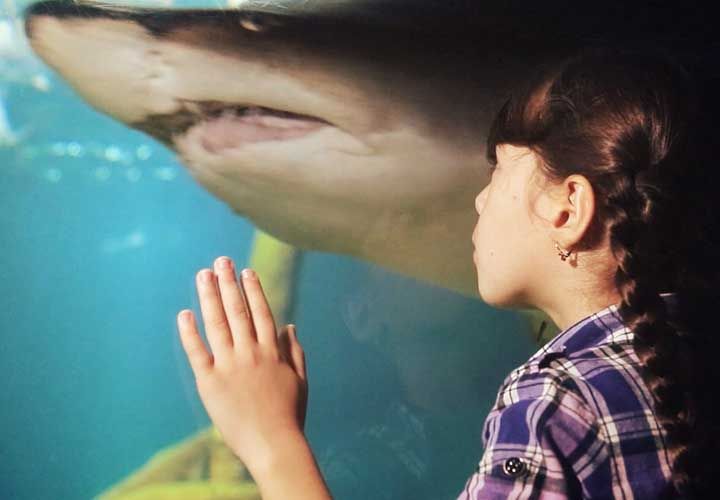
M 185 101 L 182 110 L 153 115 L 134 126 L 169 145 L 173 137 L 192 128 L 199 133 L 202 146 L 211 153 L 251 143 L 298 139 L 324 127 L 335 127 L 315 116 L 217 101 Z

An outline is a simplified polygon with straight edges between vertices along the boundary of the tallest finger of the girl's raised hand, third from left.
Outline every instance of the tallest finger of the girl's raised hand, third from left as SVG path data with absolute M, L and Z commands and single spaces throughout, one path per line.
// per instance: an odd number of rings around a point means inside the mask
M 227 267 L 223 265 L 225 259 L 227 259 Z M 227 257 L 216 259 L 215 273 L 218 276 L 220 296 L 225 306 L 225 316 L 230 324 L 233 344 L 236 349 L 247 349 L 249 342 L 255 339 L 255 332 L 247 301 L 235 277 L 232 260 Z

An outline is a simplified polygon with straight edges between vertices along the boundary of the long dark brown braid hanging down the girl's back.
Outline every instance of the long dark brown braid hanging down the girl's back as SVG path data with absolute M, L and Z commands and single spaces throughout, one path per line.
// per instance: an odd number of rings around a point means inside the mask
M 618 261 L 615 285 L 622 297 L 618 312 L 628 330 L 634 333 L 633 347 L 641 363 L 641 375 L 655 403 L 660 424 L 667 431 L 667 447 L 674 462 L 672 483 L 675 490 L 688 495 L 687 485 L 695 465 L 690 441 L 697 412 L 687 394 L 693 387 L 689 372 L 693 355 L 676 324 L 668 321 L 665 302 L 660 297 L 658 270 L 649 264 L 657 241 L 659 212 L 656 191 L 637 188 L 634 176 L 618 182 L 608 197 L 610 245 Z M 612 207 L 612 208 L 609 208 Z M 662 220 L 662 219 L 661 219 Z M 653 228 L 649 231 L 648 228 Z M 668 497 L 673 492 L 668 492 Z

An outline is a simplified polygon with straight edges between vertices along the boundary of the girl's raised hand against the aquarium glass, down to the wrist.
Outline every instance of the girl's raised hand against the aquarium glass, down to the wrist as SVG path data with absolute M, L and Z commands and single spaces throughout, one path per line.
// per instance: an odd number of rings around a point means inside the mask
M 255 466 L 272 460 L 283 440 L 303 434 L 308 396 L 305 359 L 294 326 L 283 327 L 279 337 L 276 334 L 255 274 L 243 275 L 240 287 L 232 261 L 225 259 L 215 261 L 215 274 L 203 269 L 197 275 L 212 354 L 192 311 L 178 314 L 178 329 L 208 415 L 252 473 Z

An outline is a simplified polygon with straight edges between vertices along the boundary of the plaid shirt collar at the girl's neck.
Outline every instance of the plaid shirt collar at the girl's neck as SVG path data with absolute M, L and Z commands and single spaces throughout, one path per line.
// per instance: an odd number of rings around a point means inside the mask
M 661 293 L 660 297 L 672 313 L 677 305 L 677 293 Z M 539 363 L 554 353 L 567 356 L 591 347 L 632 341 L 633 332 L 623 324 L 618 308 L 619 304 L 611 304 L 566 328 L 533 354 L 528 363 Z

